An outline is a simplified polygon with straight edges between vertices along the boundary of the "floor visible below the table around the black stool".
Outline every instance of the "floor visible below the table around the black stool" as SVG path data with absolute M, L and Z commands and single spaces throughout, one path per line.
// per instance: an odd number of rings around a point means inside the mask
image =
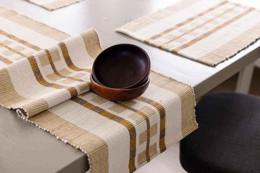
M 227 90 L 235 91 L 238 74 L 233 75 L 210 92 Z M 255 67 L 249 94 L 260 96 L 260 68 Z M 136 173 L 185 173 L 179 161 L 179 142 L 173 144 L 152 161 L 135 171 Z

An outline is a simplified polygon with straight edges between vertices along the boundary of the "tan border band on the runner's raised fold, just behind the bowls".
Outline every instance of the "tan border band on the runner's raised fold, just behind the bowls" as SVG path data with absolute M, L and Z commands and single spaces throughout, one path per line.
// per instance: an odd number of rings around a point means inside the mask
M 84 40 L 88 54 L 95 59 L 103 51 L 96 31 L 89 29 L 88 32 L 81 33 L 80 35 Z

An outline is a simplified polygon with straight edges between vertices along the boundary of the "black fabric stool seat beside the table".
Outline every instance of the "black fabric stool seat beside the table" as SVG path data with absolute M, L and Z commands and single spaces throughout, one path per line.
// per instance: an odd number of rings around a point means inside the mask
M 187 172 L 260 173 L 260 97 L 211 93 L 195 115 L 199 128 L 180 142 Z

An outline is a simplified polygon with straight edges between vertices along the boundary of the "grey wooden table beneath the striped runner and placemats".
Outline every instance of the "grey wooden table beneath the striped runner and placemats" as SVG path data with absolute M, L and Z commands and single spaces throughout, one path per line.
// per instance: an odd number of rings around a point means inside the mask
M 235 57 L 211 67 L 115 32 L 117 27 L 127 22 L 177 2 L 179 0 L 84 0 L 65 8 L 48 11 L 22 0 L 0 0 L 0 4 L 7 8 L 70 35 L 93 27 L 99 33 L 103 49 L 120 43 L 142 47 L 151 58 L 151 69 L 191 85 L 196 99 L 248 66 L 242 70 L 239 78 L 241 79 L 239 83 L 244 84 L 244 78 L 248 78 L 243 74 L 250 74 L 251 64 L 259 58 L 259 40 Z M 235 2 L 260 8 L 260 2 L 254 0 Z M 239 85 L 237 91 L 245 91 L 247 86 Z M 22 120 L 14 110 L 3 107 L 0 107 L 0 139 L 0 172 L 85 172 L 88 170 L 87 156 L 80 150 L 75 150 L 50 133 Z M 48 152 L 45 152 L 47 149 Z

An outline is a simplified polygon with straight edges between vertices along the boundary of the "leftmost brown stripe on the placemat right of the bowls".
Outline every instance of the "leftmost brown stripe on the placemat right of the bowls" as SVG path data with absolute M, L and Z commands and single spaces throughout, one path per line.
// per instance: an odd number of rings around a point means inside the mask
M 209 8 L 209 9 L 205 10 L 205 11 L 202 12 L 202 13 L 197 14 L 196 16 L 193 16 L 193 17 L 191 17 L 191 18 L 185 20 L 184 22 L 178 23 L 177 25 L 175 25 L 175 26 L 173 26 L 173 27 L 171 27 L 171 28 L 169 28 L 169 29 L 167 29 L 167 30 L 165 30 L 165 31 L 163 31 L 163 32 L 161 32 L 161 33 L 159 33 L 159 34 L 157 34 L 157 35 L 155 35 L 155 36 L 153 36 L 153 37 L 151 37 L 151 38 L 149 38 L 149 39 L 144 40 L 144 42 L 149 43 L 149 41 L 152 41 L 152 40 L 154 40 L 154 39 L 157 39 L 157 38 L 159 38 L 159 37 L 162 37 L 163 35 L 165 35 L 165 34 L 171 32 L 171 31 L 173 31 L 173 30 L 179 28 L 180 26 L 183 26 L 183 25 L 185 25 L 185 24 L 187 24 L 187 23 L 192 22 L 193 20 L 195 20 L 195 19 L 197 19 L 197 18 L 199 18 L 199 17 L 201 17 L 201 16 L 203 16 L 203 15 L 209 13 L 209 12 L 212 11 L 212 10 L 215 10 L 216 8 L 222 6 L 222 5 L 226 4 L 226 3 L 228 3 L 228 1 L 224 1 L 224 2 L 222 2 L 222 3 L 220 3 L 220 4 L 216 5 L 216 6 L 214 6 L 214 7 L 212 7 L 212 8 Z M 196 28 L 195 28 L 195 29 L 196 29 Z M 180 37 L 181 37 L 181 36 L 180 36 Z M 171 42 L 171 41 L 170 41 L 170 42 Z M 166 44 L 167 44 L 167 43 L 166 43 Z

